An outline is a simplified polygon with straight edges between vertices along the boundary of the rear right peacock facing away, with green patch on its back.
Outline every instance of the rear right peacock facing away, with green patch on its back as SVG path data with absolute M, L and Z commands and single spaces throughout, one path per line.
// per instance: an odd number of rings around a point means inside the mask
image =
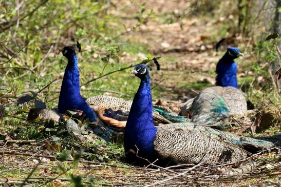
M 228 48 L 216 67 L 216 87 L 202 90 L 197 97 L 184 103 L 181 115 L 191 112 L 191 121 L 213 124 L 230 115 L 247 113 L 247 101 L 237 86 L 235 58 L 242 56 L 239 49 Z

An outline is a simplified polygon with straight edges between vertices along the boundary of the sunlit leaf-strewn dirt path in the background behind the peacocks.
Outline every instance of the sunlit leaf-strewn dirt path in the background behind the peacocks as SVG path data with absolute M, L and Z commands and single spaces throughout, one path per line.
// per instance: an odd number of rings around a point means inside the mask
M 210 40 L 214 30 L 214 21 L 209 18 L 193 18 L 190 3 L 184 1 L 141 1 L 132 6 L 121 1 L 113 13 L 122 17 L 123 24 L 131 28 L 137 23 L 133 17 L 141 3 L 148 9 L 153 8 L 155 16 L 149 19 L 137 31 L 124 35 L 126 40 L 135 44 L 144 44 L 153 56 L 161 56 L 162 71 L 152 73 L 153 81 L 160 82 L 163 92 L 161 98 L 186 100 L 196 95 L 204 87 L 215 84 L 215 66 L 223 51 L 214 50 L 215 40 Z M 180 9 L 179 9 L 180 8 Z M 121 10 L 122 9 L 122 10 Z M 146 10 L 148 11 L 148 10 Z M 187 14 L 187 15 L 185 15 Z M 167 19 L 172 15 L 185 15 L 172 24 Z M 211 72 L 211 73 L 210 73 Z M 172 92 L 172 93 L 171 93 Z

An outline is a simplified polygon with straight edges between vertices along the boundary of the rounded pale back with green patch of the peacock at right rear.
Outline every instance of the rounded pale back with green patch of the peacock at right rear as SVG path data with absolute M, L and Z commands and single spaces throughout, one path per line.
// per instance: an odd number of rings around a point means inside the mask
M 234 87 L 210 87 L 202 90 L 190 108 L 191 121 L 214 124 L 230 115 L 247 113 L 243 93 Z

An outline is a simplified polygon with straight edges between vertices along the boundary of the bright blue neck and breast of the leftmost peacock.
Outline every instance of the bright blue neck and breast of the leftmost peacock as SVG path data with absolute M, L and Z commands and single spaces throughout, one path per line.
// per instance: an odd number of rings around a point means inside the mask
M 90 121 L 96 120 L 96 115 L 85 102 L 85 99 L 80 94 L 80 80 L 78 59 L 76 54 L 71 55 L 68 59 L 63 82 L 59 97 L 59 111 L 65 112 L 67 110 L 82 110 Z

